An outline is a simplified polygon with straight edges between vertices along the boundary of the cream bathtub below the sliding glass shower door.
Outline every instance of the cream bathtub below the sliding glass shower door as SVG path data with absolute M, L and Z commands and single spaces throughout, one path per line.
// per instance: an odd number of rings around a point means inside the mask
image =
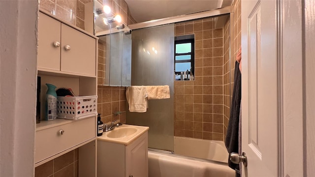
M 176 142 L 182 139 L 182 137 L 178 138 L 179 139 L 176 141 L 174 139 L 174 151 Z M 185 143 L 186 141 L 190 144 L 195 143 L 193 141 L 198 141 L 197 143 L 200 143 L 198 139 L 184 138 L 184 141 L 180 143 L 177 142 L 177 146 L 183 146 L 182 143 Z M 186 155 L 174 154 L 169 151 L 149 149 L 149 177 L 235 177 L 235 171 L 229 168 L 227 163 L 222 162 L 226 160 L 220 161 L 220 159 L 223 159 L 222 157 L 226 155 L 223 150 L 225 148 L 221 149 L 221 143 L 216 141 L 211 143 L 208 141 L 207 143 L 214 148 L 215 154 L 208 152 L 204 153 L 204 155 L 214 158 L 217 161 L 200 159 L 200 157 L 191 157 L 191 155 L 189 157 Z M 218 143 L 218 145 L 216 143 Z M 194 146 L 191 151 L 202 151 L 196 150 L 196 147 L 200 148 L 199 144 L 198 146 Z M 185 148 L 189 149 L 190 145 Z M 222 151 L 220 152 L 219 149 Z M 221 156 L 216 155 L 219 153 L 223 154 Z M 187 154 L 187 152 L 185 154 Z M 197 155 L 200 156 L 200 154 Z M 225 156 L 224 159 L 225 158 L 227 157 Z

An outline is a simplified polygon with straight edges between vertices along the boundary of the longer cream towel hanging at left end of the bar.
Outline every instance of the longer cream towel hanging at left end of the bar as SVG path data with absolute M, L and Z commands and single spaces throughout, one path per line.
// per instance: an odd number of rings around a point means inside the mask
M 144 113 L 147 111 L 147 89 L 143 86 L 126 88 L 126 99 L 130 112 Z

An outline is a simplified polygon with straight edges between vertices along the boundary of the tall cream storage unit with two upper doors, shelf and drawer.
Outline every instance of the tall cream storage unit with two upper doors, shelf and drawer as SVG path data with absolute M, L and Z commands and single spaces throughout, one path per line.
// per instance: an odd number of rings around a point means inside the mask
M 38 76 L 41 77 L 41 119 L 46 83 L 71 88 L 76 96 L 97 95 L 98 38 L 39 13 Z M 35 167 L 79 148 L 79 177 L 96 176 L 96 116 L 78 120 L 57 118 L 36 124 Z

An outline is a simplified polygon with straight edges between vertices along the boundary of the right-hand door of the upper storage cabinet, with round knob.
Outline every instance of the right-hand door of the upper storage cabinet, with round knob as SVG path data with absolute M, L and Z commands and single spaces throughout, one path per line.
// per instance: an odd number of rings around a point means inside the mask
M 61 36 L 61 70 L 96 76 L 96 39 L 64 24 Z

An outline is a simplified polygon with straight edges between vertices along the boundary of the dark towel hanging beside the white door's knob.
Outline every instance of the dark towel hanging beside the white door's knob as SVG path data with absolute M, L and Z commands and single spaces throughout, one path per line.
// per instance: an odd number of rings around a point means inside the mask
M 228 153 L 238 153 L 239 148 L 239 119 L 240 119 L 240 105 L 241 105 L 241 71 L 239 69 L 239 63 L 235 61 L 234 68 L 234 88 L 232 96 L 232 105 L 230 112 L 230 119 L 225 137 L 225 147 Z M 241 125 L 240 125 L 241 126 Z M 240 170 L 239 164 L 233 164 L 228 159 L 228 166 L 233 170 Z

